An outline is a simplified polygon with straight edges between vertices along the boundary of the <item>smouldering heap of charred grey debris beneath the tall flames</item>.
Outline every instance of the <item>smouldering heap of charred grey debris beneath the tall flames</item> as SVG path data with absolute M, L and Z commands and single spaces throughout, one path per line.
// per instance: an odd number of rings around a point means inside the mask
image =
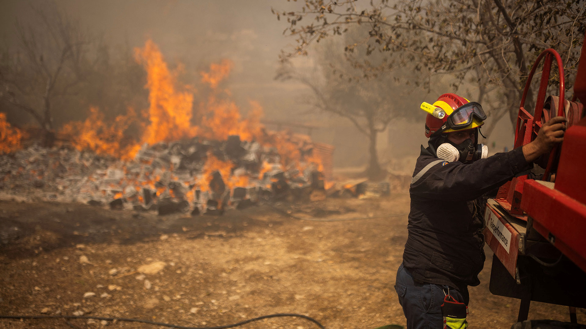
M 295 140 L 295 135 L 289 135 Z M 305 152 L 311 143 L 297 139 Z M 32 146 L 0 157 L 0 189 L 30 200 L 76 201 L 158 214 L 221 214 L 323 190 L 316 165 L 285 168 L 276 148 L 230 136 L 145 145 L 134 160 Z

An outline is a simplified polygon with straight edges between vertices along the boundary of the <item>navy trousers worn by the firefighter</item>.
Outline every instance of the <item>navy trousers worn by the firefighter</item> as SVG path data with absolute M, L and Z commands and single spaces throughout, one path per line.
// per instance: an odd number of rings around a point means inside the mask
M 443 328 L 444 317 L 441 314 L 441 304 L 444 303 L 444 292 L 448 293 L 448 288 L 449 294 L 454 299 L 468 305 L 468 289 L 459 291 L 454 287 L 415 282 L 411 273 L 401 263 L 397 270 L 395 290 L 407 318 L 407 329 Z

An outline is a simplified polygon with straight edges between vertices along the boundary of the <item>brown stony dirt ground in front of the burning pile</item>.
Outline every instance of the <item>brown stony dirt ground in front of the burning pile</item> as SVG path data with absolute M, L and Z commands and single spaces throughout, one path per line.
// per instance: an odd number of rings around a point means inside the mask
M 194 327 L 299 313 L 328 329 L 404 325 L 393 285 L 408 206 L 407 194 L 391 194 L 259 205 L 220 217 L 161 217 L 0 201 L 0 313 L 82 311 Z M 489 293 L 488 249 L 487 255 L 482 284 L 470 288 L 469 323 L 510 328 L 519 300 Z M 155 274 L 137 272 L 154 262 L 165 267 Z M 529 317 L 569 321 L 567 307 L 535 302 Z M 87 322 L 0 319 L 0 327 L 157 327 Z M 583 311 L 578 322 L 586 322 Z M 317 326 L 301 318 L 270 318 L 241 328 Z

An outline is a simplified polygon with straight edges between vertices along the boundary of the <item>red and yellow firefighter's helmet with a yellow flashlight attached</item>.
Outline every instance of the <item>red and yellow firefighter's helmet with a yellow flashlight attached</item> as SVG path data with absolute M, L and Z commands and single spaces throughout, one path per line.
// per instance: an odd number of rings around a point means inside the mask
M 454 112 L 455 109 L 469 102 L 470 101 L 466 100 L 466 98 L 458 96 L 456 94 L 443 94 L 440 97 L 438 97 L 437 101 L 434 102 L 433 106 L 444 110 L 445 115 L 441 119 L 439 119 L 430 113 L 427 114 L 427 118 L 425 118 L 425 137 L 430 138 L 434 132 L 442 130 L 442 128 L 444 128 L 442 132 L 456 131 L 455 129 L 447 128 L 446 122 L 448 121 L 448 117 L 452 114 L 452 112 Z M 424 104 L 427 103 L 424 102 Z M 424 104 L 421 105 L 421 108 L 425 111 L 428 111 L 429 108 L 424 108 Z M 475 117 L 472 117 L 472 123 L 466 126 L 465 128 L 458 129 L 458 131 L 463 129 L 473 129 L 482 126 L 483 124 L 483 121 Z

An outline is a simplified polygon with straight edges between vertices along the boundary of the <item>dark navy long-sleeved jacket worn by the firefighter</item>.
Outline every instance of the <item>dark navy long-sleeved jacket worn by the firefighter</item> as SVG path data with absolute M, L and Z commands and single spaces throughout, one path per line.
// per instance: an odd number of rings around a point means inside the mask
M 422 147 L 413 176 L 438 160 L 431 154 Z M 521 148 L 469 165 L 440 162 L 432 166 L 409 189 L 405 268 L 420 282 L 478 286 L 485 261 L 482 212 L 486 197 L 482 196 L 531 167 Z

